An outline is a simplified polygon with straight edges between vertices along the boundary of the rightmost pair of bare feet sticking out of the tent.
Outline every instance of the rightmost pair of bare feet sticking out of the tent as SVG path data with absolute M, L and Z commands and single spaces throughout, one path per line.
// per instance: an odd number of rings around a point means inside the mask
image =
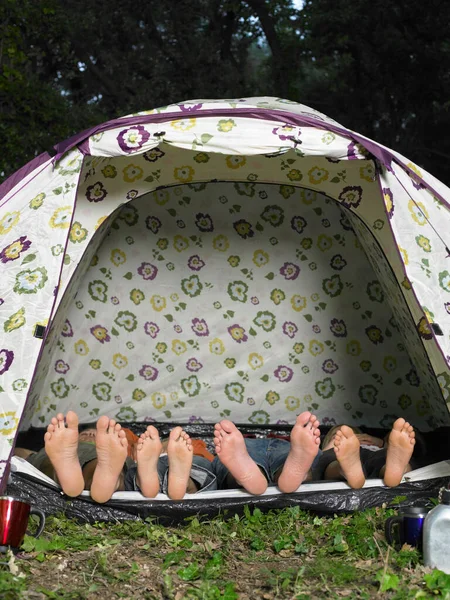
M 386 465 L 380 472 L 385 485 L 397 486 L 405 473 L 411 470 L 409 461 L 416 443 L 414 428 L 405 419 L 397 419 L 387 442 Z M 325 478 L 335 478 L 336 466 L 350 487 L 361 488 L 365 476 L 360 459 L 360 441 L 351 427 L 342 425 L 334 437 L 334 452 L 338 465 L 331 463 L 325 471 Z M 325 448 L 326 449 L 326 448 Z

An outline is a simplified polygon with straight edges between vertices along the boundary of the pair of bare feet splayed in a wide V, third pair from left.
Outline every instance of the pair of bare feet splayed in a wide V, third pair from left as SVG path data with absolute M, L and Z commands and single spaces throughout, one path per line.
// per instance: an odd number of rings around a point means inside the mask
M 301 413 L 291 430 L 291 445 L 286 462 L 277 475 L 282 492 L 294 492 L 308 476 L 320 444 L 319 421 L 306 411 Z M 250 494 L 263 494 L 268 481 L 251 458 L 242 433 L 231 421 L 224 420 L 214 428 L 216 453 L 237 483 Z

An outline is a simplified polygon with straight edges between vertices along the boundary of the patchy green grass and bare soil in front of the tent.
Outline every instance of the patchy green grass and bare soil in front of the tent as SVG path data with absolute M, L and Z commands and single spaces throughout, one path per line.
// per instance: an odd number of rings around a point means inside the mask
M 450 575 L 423 567 L 416 549 L 387 545 L 394 512 L 246 509 L 178 527 L 50 517 L 41 538 L 27 536 L 19 555 L 4 557 L 0 598 L 450 600 Z

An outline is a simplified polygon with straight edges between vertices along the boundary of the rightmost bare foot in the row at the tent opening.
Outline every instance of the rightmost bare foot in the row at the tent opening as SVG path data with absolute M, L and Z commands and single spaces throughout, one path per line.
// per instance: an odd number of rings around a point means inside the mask
M 408 470 L 415 438 L 414 428 L 408 421 L 402 418 L 395 421 L 387 445 L 386 471 L 383 478 L 387 486 L 398 485 Z

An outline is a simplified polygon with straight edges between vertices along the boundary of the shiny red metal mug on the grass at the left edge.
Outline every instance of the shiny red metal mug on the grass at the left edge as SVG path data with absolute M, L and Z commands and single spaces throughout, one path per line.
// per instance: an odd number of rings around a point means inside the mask
M 44 513 L 19 498 L 0 496 L 0 551 L 7 548 L 17 550 L 21 546 L 27 533 L 30 515 L 39 517 L 37 531 L 30 535 L 39 537 L 45 525 Z

